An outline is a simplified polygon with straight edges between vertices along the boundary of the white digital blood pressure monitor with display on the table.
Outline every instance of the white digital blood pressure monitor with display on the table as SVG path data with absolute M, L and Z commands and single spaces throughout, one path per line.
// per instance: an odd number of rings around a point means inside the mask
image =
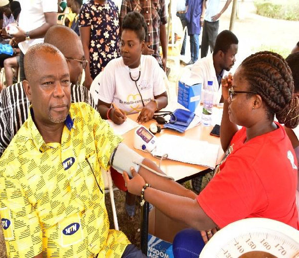
M 156 147 L 156 137 L 144 126 L 139 126 L 134 133 L 134 148 L 151 152 Z

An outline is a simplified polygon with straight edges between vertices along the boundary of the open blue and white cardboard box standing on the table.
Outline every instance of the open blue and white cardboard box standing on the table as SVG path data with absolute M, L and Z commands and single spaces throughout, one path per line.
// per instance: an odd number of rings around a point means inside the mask
M 195 112 L 200 105 L 201 84 L 187 85 L 181 81 L 178 82 L 177 102 Z

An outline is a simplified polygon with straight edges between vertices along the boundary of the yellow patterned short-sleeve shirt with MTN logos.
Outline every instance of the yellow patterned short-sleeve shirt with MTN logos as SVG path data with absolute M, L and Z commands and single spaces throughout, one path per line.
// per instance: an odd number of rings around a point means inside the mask
M 71 104 L 61 144 L 46 144 L 29 115 L 0 159 L 9 257 L 122 256 L 130 242 L 109 229 L 101 173 L 121 141 L 86 103 Z

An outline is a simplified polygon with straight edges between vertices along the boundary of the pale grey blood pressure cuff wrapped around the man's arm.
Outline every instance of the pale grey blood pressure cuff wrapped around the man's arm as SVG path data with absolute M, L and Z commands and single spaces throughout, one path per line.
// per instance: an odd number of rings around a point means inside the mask
M 140 166 L 134 162 L 142 163 L 145 158 L 130 149 L 126 144 L 120 143 L 110 157 L 110 165 L 119 173 L 126 171 L 132 178 L 131 167 L 139 172 Z

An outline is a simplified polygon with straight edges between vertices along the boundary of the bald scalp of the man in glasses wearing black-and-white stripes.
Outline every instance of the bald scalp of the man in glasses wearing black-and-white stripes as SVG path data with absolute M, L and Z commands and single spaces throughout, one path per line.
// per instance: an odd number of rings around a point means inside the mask
M 72 56 L 72 46 L 76 41 L 81 40 L 71 28 L 62 25 L 54 25 L 47 30 L 44 38 L 45 43 L 57 47 L 65 57 Z

